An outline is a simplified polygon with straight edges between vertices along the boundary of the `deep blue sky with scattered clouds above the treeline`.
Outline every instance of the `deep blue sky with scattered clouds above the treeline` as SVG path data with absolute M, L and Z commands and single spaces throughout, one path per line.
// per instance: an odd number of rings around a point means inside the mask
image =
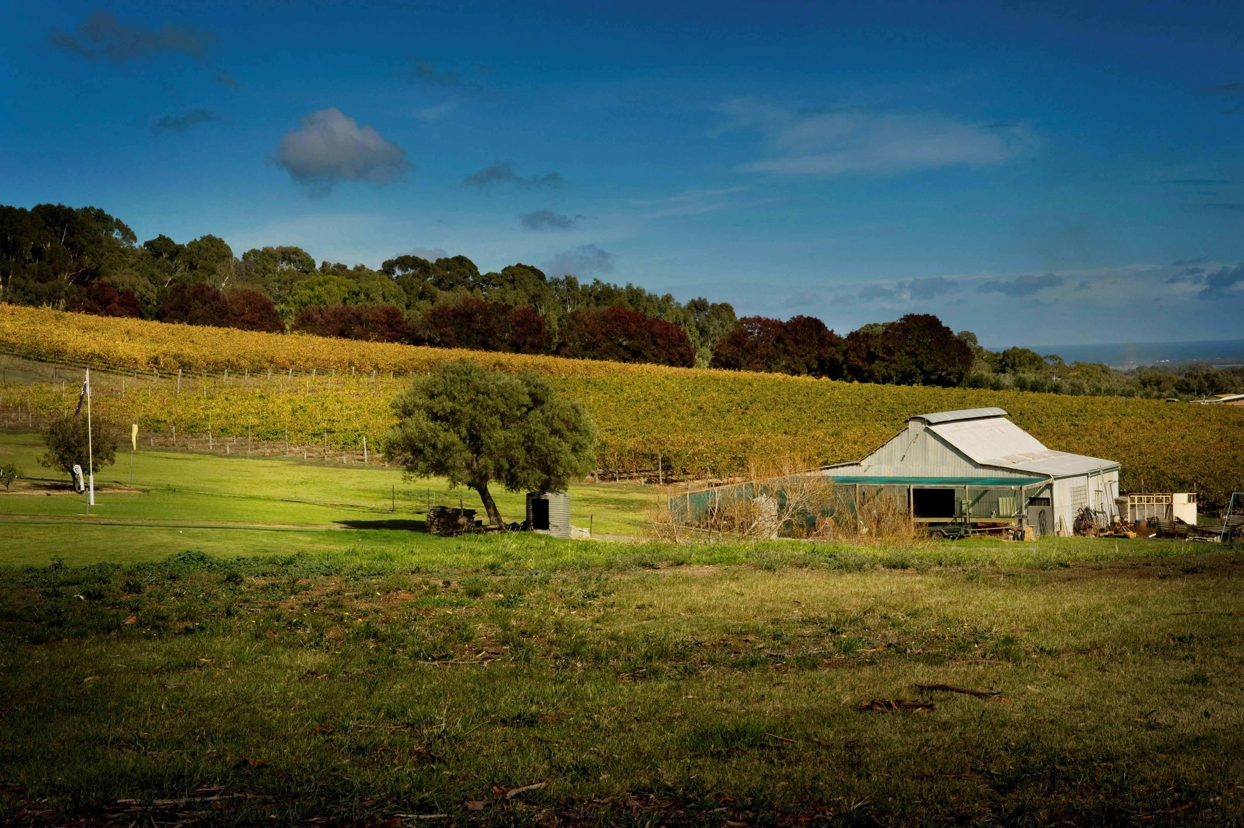
M 863 7 L 861 7 L 863 6 Z M 22 4 L 0 203 L 984 344 L 1239 339 L 1239 4 Z

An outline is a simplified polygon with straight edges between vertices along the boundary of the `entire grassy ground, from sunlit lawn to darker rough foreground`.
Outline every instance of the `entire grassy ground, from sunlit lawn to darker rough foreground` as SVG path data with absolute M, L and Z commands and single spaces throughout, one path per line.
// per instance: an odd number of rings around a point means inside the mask
M 0 496 L 0 824 L 1244 821 L 1239 548 L 442 539 L 396 472 L 127 476 Z

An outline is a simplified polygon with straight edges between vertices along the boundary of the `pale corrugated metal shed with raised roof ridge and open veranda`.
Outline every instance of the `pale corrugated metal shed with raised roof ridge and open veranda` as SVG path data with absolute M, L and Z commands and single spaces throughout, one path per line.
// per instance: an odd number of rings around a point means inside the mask
M 857 463 L 825 467 L 838 486 L 907 489 L 912 517 L 1026 523 L 1037 534 L 1072 534 L 1085 507 L 1116 515 L 1120 464 L 1046 448 L 1001 408 L 919 415 Z

